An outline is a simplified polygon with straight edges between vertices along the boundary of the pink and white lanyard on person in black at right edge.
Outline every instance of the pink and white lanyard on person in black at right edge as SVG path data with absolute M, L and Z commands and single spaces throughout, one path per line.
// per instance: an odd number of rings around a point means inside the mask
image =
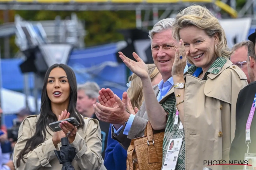
M 249 143 L 251 143 L 250 129 L 251 129 L 253 115 L 254 115 L 254 111 L 255 111 L 255 107 L 256 107 L 255 102 L 256 102 L 256 94 L 255 94 L 254 99 L 253 99 L 252 108 L 251 108 L 249 117 L 247 119 L 246 128 L 245 128 L 245 143 L 247 143 L 247 153 L 248 154 L 249 154 Z

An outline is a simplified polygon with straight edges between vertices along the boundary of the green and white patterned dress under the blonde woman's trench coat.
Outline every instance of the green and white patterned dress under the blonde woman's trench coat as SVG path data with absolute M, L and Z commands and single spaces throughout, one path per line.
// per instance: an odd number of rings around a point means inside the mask
M 226 58 L 218 57 L 213 62 L 211 67 L 208 69 L 208 71 L 204 74 L 203 80 L 207 80 L 207 75 L 210 73 L 218 74 L 226 62 L 227 62 Z M 197 69 L 197 67 L 195 65 L 192 65 L 188 68 L 188 71 L 185 74 L 193 75 L 193 73 L 196 71 L 196 69 Z M 179 119 L 178 124 L 174 125 L 175 115 L 176 115 L 175 105 L 176 105 L 176 99 L 175 99 L 174 93 L 171 94 L 166 99 L 166 101 L 161 104 L 161 106 L 165 109 L 165 111 L 167 113 L 169 113 L 166 128 L 165 128 L 165 137 L 163 138 L 163 160 L 162 160 L 162 162 L 164 163 L 164 161 L 165 161 L 166 153 L 168 150 L 168 144 L 169 144 L 170 140 L 183 137 L 183 142 L 182 142 L 182 146 L 181 146 L 181 150 L 179 153 L 179 157 L 177 160 L 177 165 L 176 165 L 175 170 L 185 170 L 185 139 L 184 139 L 185 133 L 184 133 L 184 130 L 182 132 L 179 131 L 179 125 L 181 123 L 180 119 Z

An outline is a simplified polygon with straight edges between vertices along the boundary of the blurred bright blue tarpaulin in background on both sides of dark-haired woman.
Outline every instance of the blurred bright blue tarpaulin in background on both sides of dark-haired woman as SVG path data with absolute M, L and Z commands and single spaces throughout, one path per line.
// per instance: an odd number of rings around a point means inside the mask
M 116 44 L 108 44 L 83 50 L 73 50 L 68 65 L 74 70 L 78 84 L 95 81 L 101 88 L 111 88 L 119 97 L 127 89 L 126 66 L 117 63 Z M 2 59 L 3 88 L 23 91 L 24 77 L 19 69 L 22 59 Z M 30 74 L 29 86 L 33 89 L 33 75 Z

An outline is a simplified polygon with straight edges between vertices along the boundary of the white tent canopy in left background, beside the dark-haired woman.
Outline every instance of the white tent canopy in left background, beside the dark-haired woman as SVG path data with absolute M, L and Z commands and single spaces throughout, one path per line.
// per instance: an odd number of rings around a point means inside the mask
M 1 89 L 1 106 L 3 114 L 15 114 L 26 107 L 26 96 L 23 93 Z M 35 101 L 33 96 L 28 96 L 28 106 L 31 112 L 35 112 Z M 38 100 L 40 110 L 41 100 Z

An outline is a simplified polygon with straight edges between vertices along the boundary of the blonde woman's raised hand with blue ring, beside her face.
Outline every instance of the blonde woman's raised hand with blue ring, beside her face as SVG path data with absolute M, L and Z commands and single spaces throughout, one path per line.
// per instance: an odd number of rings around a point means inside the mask
M 183 77 L 184 69 L 187 64 L 187 54 L 183 40 L 179 42 L 179 47 L 176 49 L 175 58 L 172 66 L 172 77 Z

